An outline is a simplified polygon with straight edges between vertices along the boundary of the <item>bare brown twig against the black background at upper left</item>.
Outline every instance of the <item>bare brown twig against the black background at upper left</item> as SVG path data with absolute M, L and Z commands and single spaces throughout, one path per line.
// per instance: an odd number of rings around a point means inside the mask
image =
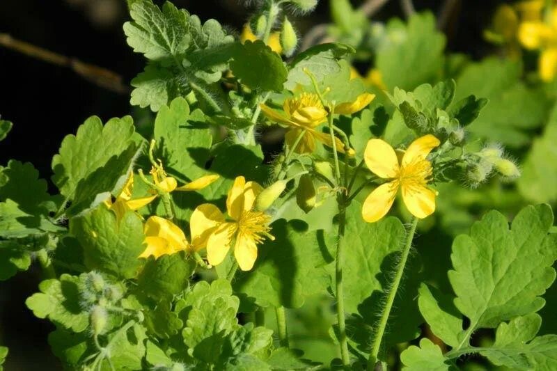
M 112 72 L 106 68 L 84 63 L 79 61 L 77 58 L 63 56 L 62 54 L 51 52 L 47 49 L 43 49 L 42 47 L 29 44 L 29 42 L 17 40 L 11 35 L 8 35 L 8 33 L 0 33 L 0 45 L 53 65 L 70 68 L 75 73 L 79 74 L 79 76 L 84 77 L 84 79 L 90 81 L 91 83 L 102 88 L 112 90 L 115 93 L 130 93 L 130 88 L 123 84 L 122 77 L 116 72 Z

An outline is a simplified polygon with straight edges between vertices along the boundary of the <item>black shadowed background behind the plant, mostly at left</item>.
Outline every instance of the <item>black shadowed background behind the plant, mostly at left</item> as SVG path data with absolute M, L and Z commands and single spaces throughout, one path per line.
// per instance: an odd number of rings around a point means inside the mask
M 155 1 L 162 3 L 162 1 Z M 503 1 L 458 1 L 448 30 L 448 50 L 480 58 L 491 47 L 482 38 L 497 4 Z M 215 18 L 238 33 L 249 15 L 239 0 L 175 0 L 179 8 Z M 361 1 L 352 1 L 358 6 Z M 439 11 L 444 1 L 414 0 L 416 10 Z M 399 2 L 391 0 L 374 16 L 402 17 Z M 1 0 L 0 33 L 78 58 L 116 72 L 123 84 L 143 69 L 144 61 L 127 47 L 122 24 L 124 0 Z M 320 0 L 311 15 L 297 19 L 301 34 L 314 24 L 328 22 L 329 1 Z M 393 63 L 395 63 L 393 61 Z M 0 115 L 13 121 L 8 138 L 0 142 L 0 164 L 8 159 L 30 161 L 41 177 L 51 175 L 50 161 L 66 134 L 91 115 L 102 120 L 130 113 L 129 94 L 102 88 L 70 68 L 52 65 L 0 46 Z M 22 184 L 24 187 L 24 184 Z M 50 184 L 52 189 L 52 184 Z M 54 191 L 54 189 L 52 189 Z M 40 271 L 31 269 L 0 282 L 0 345 L 10 348 L 6 370 L 59 370 L 47 334 L 54 326 L 37 319 L 25 299 L 37 291 Z

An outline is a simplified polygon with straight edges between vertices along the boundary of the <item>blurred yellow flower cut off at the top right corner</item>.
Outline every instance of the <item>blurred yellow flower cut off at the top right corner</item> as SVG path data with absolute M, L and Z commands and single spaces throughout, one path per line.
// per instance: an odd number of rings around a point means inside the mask
M 538 2 L 533 2 L 538 3 Z M 541 8 L 540 8 L 541 13 Z M 539 20 L 520 24 L 518 38 L 526 49 L 540 49 L 538 72 L 543 81 L 557 74 L 557 7 L 551 10 L 547 22 Z

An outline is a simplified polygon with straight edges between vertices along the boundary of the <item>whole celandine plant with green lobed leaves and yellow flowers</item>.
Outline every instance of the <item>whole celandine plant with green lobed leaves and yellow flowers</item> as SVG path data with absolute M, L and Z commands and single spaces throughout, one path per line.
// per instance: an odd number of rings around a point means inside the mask
M 524 122 L 496 126 L 538 93 L 501 72 L 519 88 L 498 101 L 481 76 L 499 62 L 445 59 L 428 13 L 385 26 L 331 1 L 338 41 L 295 54 L 288 17 L 316 3 L 255 1 L 240 41 L 129 1 L 152 127 L 88 118 L 52 159 L 58 195 L 31 164 L 0 168 L 0 278 L 41 265 L 26 305 L 65 368 L 557 370 L 554 216 L 523 205 L 494 144 L 528 144 Z M 285 140 L 265 157 L 268 126 Z

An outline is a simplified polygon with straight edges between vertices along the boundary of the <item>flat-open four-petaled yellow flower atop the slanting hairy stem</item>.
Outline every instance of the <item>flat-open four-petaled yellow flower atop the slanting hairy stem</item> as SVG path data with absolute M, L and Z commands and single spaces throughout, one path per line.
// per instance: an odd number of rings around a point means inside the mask
M 381 219 L 393 205 L 398 189 L 409 212 L 423 219 L 435 211 L 436 192 L 427 187 L 432 175 L 432 166 L 426 159 L 431 150 L 439 145 L 439 139 L 431 134 L 412 142 L 402 159 L 385 141 L 368 141 L 364 160 L 366 165 L 383 179 L 389 179 L 377 187 L 363 203 L 362 216 L 369 223 Z

